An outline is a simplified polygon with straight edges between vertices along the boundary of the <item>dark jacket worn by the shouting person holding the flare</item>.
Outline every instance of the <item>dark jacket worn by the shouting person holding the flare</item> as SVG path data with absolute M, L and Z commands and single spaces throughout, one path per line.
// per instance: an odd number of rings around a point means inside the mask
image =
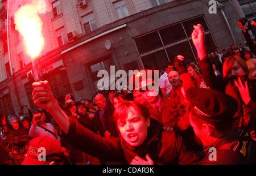
M 162 131 L 162 128 L 148 127 L 148 136 L 142 145 L 132 147 L 120 136 L 102 138 L 76 119 L 69 118 L 69 131 L 65 138 L 80 149 L 102 160 L 121 161 L 130 164 L 135 156 L 145 158 L 149 154 L 154 164 L 193 164 L 198 156 L 185 145 L 183 139 L 174 131 Z

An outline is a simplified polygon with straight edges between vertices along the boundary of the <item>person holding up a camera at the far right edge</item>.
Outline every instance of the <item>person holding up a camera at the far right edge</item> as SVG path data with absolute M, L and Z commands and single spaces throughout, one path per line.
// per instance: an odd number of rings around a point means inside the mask
M 256 45 L 253 43 L 253 40 L 251 40 L 251 37 L 248 33 L 248 31 L 250 31 L 250 28 L 252 26 L 256 27 L 256 23 L 253 20 L 247 20 L 246 18 L 241 18 L 238 22 L 238 26 L 242 29 L 242 33 L 245 36 L 246 43 L 249 46 L 251 52 L 256 54 Z

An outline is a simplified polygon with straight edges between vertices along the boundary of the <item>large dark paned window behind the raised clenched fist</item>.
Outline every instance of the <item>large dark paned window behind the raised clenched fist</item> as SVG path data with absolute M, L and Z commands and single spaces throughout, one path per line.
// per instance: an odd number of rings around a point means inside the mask
M 202 24 L 207 51 L 214 50 L 214 42 L 203 16 L 159 29 L 134 38 L 144 68 L 164 70 L 168 62 L 174 64 L 176 55 L 184 55 L 185 62 L 196 61 L 196 50 L 191 41 L 193 25 Z

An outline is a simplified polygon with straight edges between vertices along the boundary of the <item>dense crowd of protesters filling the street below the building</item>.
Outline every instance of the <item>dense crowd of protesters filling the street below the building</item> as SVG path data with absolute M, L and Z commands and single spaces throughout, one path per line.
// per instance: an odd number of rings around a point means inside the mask
M 1 115 L 0 163 L 256 164 L 256 44 L 238 25 L 245 46 L 209 54 L 203 27 L 194 25 L 198 63 L 185 65 L 177 55 L 160 75 L 159 93 L 143 89 L 154 79 L 134 74 L 129 84 L 138 90 L 99 91 L 80 101 L 68 94 L 61 103 L 47 81 L 34 83 L 39 108 Z M 40 147 L 46 161 L 38 160 Z M 209 159 L 210 147 L 217 160 Z

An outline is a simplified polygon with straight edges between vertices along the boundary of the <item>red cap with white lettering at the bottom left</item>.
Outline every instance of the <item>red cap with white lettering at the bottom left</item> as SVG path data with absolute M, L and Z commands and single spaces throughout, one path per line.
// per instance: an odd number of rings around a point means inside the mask
M 64 147 L 61 147 L 60 141 L 49 138 L 48 136 L 39 136 L 30 140 L 30 147 L 27 150 L 27 156 L 24 158 L 22 165 L 48 165 L 49 161 L 40 161 L 42 152 L 48 154 L 63 153 Z

